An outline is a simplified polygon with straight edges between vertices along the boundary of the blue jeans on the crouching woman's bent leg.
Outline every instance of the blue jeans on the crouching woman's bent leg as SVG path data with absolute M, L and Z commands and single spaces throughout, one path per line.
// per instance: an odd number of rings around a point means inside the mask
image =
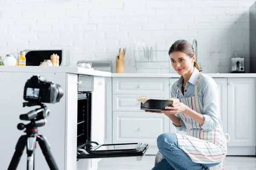
M 219 163 L 198 164 L 180 148 L 175 133 L 163 133 L 157 137 L 157 147 L 165 159 L 160 161 L 152 170 L 208 170 Z

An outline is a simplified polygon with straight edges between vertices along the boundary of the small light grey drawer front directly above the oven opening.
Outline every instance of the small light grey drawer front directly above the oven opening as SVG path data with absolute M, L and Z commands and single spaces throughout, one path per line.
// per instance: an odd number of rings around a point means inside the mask
M 78 91 L 93 91 L 93 84 L 92 76 L 78 75 Z

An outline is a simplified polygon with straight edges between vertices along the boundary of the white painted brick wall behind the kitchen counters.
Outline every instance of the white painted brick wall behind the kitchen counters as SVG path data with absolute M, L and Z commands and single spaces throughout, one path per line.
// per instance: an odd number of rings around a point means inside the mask
M 230 57 L 245 57 L 254 0 L 0 0 L 0 55 L 24 49 L 64 48 L 74 60 L 113 61 L 134 41 L 169 50 L 177 39 L 198 40 L 205 73 L 229 72 Z

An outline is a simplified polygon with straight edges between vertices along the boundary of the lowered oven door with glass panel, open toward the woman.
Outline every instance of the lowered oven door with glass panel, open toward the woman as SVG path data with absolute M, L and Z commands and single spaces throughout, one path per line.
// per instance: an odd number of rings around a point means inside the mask
M 92 146 L 92 143 L 96 146 Z M 98 144 L 97 142 L 88 142 L 85 146 L 77 148 L 77 159 L 135 156 L 137 161 L 141 161 L 148 147 L 148 144 L 142 143 Z

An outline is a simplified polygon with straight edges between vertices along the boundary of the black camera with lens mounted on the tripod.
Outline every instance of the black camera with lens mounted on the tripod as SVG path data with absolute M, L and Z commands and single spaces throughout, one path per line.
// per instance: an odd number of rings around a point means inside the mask
M 49 82 L 40 75 L 32 76 L 27 80 L 23 99 L 35 103 L 55 103 L 59 102 L 63 96 L 61 86 L 54 82 Z

